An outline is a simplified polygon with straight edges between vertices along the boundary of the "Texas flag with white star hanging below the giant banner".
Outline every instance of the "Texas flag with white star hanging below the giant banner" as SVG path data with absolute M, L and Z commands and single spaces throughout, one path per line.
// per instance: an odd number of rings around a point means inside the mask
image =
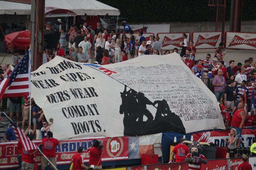
M 161 143 L 162 133 L 145 136 L 129 136 L 129 159 L 141 158 L 143 153 L 154 153 L 154 143 Z

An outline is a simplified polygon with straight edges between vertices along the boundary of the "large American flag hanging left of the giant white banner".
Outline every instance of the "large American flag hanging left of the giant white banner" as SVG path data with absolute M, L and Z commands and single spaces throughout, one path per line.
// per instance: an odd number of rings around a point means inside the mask
M 2 99 L 2 97 L 29 96 L 30 65 L 28 51 L 12 70 L 10 75 L 0 84 L 0 99 Z

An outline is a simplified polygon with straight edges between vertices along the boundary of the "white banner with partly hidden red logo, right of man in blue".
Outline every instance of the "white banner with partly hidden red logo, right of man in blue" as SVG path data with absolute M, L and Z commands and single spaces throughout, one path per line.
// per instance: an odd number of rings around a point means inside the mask
M 130 25 L 132 30 L 135 33 L 138 33 L 140 30 L 144 33 L 154 33 L 155 35 L 157 33 L 168 33 L 170 32 L 170 24 L 138 24 L 138 25 Z

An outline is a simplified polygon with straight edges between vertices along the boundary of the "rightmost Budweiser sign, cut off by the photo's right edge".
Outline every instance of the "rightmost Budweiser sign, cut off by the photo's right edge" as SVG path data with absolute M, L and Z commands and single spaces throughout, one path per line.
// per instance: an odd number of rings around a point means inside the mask
M 256 33 L 225 33 L 226 48 L 256 49 Z

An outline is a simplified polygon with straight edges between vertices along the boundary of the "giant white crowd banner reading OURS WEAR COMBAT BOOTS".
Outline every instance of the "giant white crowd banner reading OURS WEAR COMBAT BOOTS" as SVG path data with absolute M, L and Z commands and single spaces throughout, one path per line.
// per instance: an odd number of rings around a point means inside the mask
M 104 65 L 56 57 L 31 90 L 57 139 L 224 128 L 216 97 L 176 53 Z

